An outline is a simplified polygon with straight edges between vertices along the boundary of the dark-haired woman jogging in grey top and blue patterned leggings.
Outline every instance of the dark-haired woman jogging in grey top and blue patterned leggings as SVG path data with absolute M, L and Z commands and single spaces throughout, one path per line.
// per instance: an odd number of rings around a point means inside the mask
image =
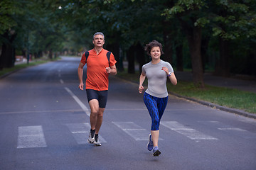
M 142 74 L 139 77 L 139 93 L 142 93 L 142 86 L 145 78 L 148 79 L 148 89 L 144 93 L 144 103 L 151 117 L 151 134 L 149 134 L 149 151 L 153 149 L 153 156 L 157 157 L 161 152 L 158 147 L 159 124 L 168 101 L 166 79 L 169 77 L 171 84 L 176 85 L 177 79 L 174 69 L 169 62 L 164 62 L 160 56 L 164 53 L 160 42 L 153 40 L 145 47 L 147 55 L 151 56 L 151 62 L 142 66 Z

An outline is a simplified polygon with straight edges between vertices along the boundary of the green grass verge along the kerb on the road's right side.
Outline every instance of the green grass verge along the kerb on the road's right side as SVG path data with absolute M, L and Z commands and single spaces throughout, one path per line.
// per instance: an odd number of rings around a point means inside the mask
M 117 77 L 136 82 L 139 85 L 139 72 L 136 72 L 135 74 L 118 72 Z M 146 86 L 146 82 L 147 81 L 145 80 L 144 86 Z M 204 89 L 198 89 L 193 85 L 193 82 L 188 81 L 178 81 L 177 86 L 172 85 L 171 82 L 168 81 L 167 89 L 180 96 L 195 98 L 200 101 L 207 101 L 228 108 L 236 108 L 248 113 L 256 113 L 255 93 L 218 86 L 209 86 L 207 84 Z

